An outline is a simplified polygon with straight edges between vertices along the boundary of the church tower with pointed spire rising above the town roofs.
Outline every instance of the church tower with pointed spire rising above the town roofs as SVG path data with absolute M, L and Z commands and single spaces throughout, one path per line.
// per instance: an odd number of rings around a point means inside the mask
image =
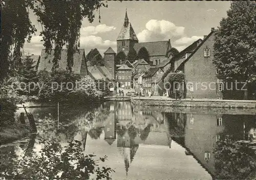
M 129 50 L 134 46 L 135 43 L 138 43 L 138 38 L 133 30 L 131 22 L 127 16 L 127 11 L 125 11 L 123 27 L 117 37 L 117 53 L 123 51 L 125 55 Z

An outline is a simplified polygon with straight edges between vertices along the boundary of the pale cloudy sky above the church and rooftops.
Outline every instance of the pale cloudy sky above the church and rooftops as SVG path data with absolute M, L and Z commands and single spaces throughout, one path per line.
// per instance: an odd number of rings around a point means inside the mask
M 230 8 L 228 1 L 108 1 L 108 8 L 100 9 L 92 24 L 84 18 L 80 30 L 80 48 L 97 48 L 101 55 L 109 48 L 116 52 L 116 39 L 122 28 L 125 9 L 139 42 L 170 39 L 172 47 L 182 51 L 191 43 L 203 39 L 211 28 L 218 28 Z M 30 43 L 25 43 L 24 51 L 40 55 L 44 49 L 39 36 L 41 25 L 30 13 L 32 24 L 37 28 Z

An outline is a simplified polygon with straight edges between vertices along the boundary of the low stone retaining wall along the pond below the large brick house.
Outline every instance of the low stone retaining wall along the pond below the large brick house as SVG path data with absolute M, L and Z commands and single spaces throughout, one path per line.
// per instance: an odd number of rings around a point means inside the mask
M 150 106 L 183 106 L 183 107 L 227 107 L 227 108 L 256 108 L 256 101 L 234 100 L 173 100 L 173 99 L 139 99 L 131 98 L 134 105 Z

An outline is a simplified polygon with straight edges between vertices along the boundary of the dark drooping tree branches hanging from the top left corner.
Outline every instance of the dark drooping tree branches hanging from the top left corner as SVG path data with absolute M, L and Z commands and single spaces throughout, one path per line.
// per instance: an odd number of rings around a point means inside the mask
M 20 0 L 18 3 L 15 0 L 1 1 L 1 80 L 18 67 L 22 56 L 20 50 L 24 46 L 25 39 L 27 38 L 29 42 L 32 34 L 36 32 L 29 18 L 29 9 L 34 11 L 37 21 L 41 24 L 40 36 L 44 41 L 46 52 L 50 53 L 54 47 L 53 69 L 58 65 L 62 47 L 66 45 L 67 68 L 71 72 L 73 54 L 79 47 L 81 22 L 83 18 L 93 22 L 94 11 L 102 6 L 107 7 L 98 0 Z M 13 60 L 10 59 L 12 47 L 14 47 Z

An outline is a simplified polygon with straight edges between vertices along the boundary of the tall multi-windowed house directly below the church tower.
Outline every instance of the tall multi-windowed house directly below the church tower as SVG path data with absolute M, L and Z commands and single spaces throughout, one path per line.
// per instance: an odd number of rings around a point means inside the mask
M 132 68 L 128 67 L 126 64 L 122 64 L 117 69 L 117 81 L 118 87 L 121 88 L 132 88 Z

